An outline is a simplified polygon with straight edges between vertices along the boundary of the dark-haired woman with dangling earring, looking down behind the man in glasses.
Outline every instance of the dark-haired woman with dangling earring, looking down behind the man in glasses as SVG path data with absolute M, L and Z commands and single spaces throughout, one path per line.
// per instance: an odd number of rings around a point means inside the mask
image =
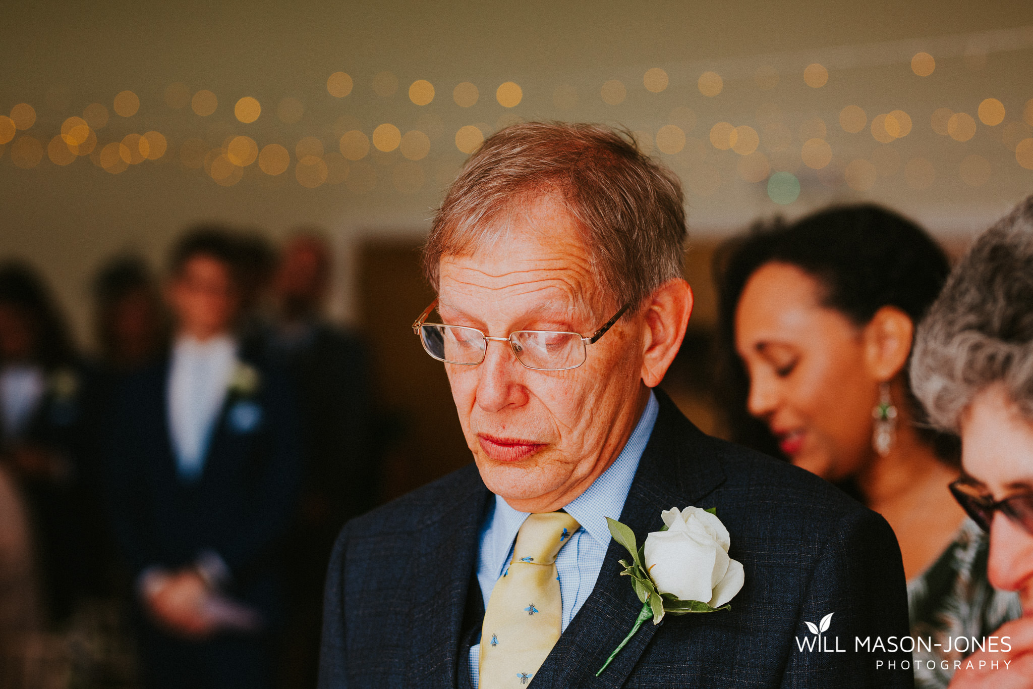
M 987 539 L 945 490 L 959 475 L 957 440 L 927 428 L 907 377 L 914 326 L 946 279 L 946 256 L 908 220 L 854 206 L 762 228 L 719 261 L 721 387 L 735 439 L 886 519 L 912 635 L 941 644 L 916 650 L 916 684 L 945 686 L 940 661 L 961 657 L 942 646 L 946 636 L 985 635 L 1020 614 L 1013 595 L 987 582 Z

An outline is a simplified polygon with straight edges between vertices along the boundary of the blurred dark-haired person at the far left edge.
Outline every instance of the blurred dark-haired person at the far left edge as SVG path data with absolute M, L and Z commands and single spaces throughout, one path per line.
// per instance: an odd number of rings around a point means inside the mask
M 75 518 L 82 371 L 43 281 L 0 264 L 0 460 L 28 504 L 49 612 L 71 612 L 83 561 Z

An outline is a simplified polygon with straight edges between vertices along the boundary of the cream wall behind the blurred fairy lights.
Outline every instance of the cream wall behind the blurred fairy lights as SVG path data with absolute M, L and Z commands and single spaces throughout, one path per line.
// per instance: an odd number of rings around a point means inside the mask
M 1029 2 L 97 4 L 8 5 L 0 24 L 0 113 L 20 102 L 32 104 L 37 121 L 26 134 L 45 145 L 66 118 L 81 115 L 91 102 L 112 109 L 115 95 L 128 89 L 138 95 L 139 111 L 129 118 L 113 113 L 97 130 L 100 145 L 149 130 L 162 132 L 169 143 L 159 160 L 118 175 L 87 158 L 59 166 L 44 156 L 37 166 L 22 169 L 12 164 L 12 144 L 3 147 L 0 255 L 40 265 L 84 333 L 85 288 L 104 257 L 128 248 L 158 259 L 177 232 L 205 220 L 259 227 L 273 237 L 301 223 L 326 227 L 343 267 L 335 311 L 352 315 L 353 271 L 347 268 L 357 240 L 425 231 L 440 188 L 464 157 L 456 132 L 475 125 L 491 133 L 514 117 L 622 124 L 641 132 L 644 142 L 653 142 L 661 127 L 677 120 L 688 140 L 680 153 L 661 157 L 686 182 L 690 222 L 698 237 L 727 233 L 758 215 L 799 215 L 855 199 L 902 209 L 944 236 L 965 236 L 1033 190 L 1033 171 L 1016 163 L 1002 135 L 1009 123 L 1019 123 L 1012 133 L 1029 126 L 1021 123 L 1024 104 L 1033 98 Z M 930 76 L 916 76 L 910 68 L 919 51 L 936 58 Z M 829 72 L 818 89 L 803 79 L 812 62 Z M 774 89 L 764 90 L 754 80 L 761 66 L 778 71 Z M 655 67 L 669 80 L 658 93 L 644 85 L 645 73 Z M 354 82 L 353 91 L 340 99 L 325 86 L 338 70 Z M 723 89 L 714 97 L 697 88 L 699 75 L 709 70 L 723 76 Z M 373 89 L 381 71 L 399 80 L 393 95 Z M 416 105 L 406 95 L 418 79 L 435 86 L 428 105 Z M 618 104 L 602 98 L 601 87 L 612 80 L 626 89 Z M 461 107 L 451 92 L 467 81 L 480 96 L 475 105 Z M 495 98 L 496 88 L 509 81 L 523 91 L 513 108 Z M 189 108 L 168 107 L 164 92 L 174 82 L 215 92 L 216 113 L 202 118 Z M 233 117 L 232 104 L 243 96 L 262 104 L 254 123 Z M 305 108 L 292 124 L 276 115 L 288 96 Z M 933 131 L 930 118 L 936 108 L 975 117 L 988 97 L 1004 103 L 1001 125 L 978 123 L 965 143 Z M 763 182 L 741 178 L 742 156 L 719 151 L 709 140 L 711 127 L 720 121 L 763 133 L 769 104 L 776 105 L 793 134 L 792 155 L 799 155 L 806 135 L 801 128 L 820 118 L 834 152 L 828 169 L 839 170 L 839 178 L 822 173 L 828 186 L 796 161 L 802 193 L 785 207 L 769 198 Z M 838 123 L 847 104 L 862 106 L 869 122 L 880 113 L 903 109 L 913 129 L 889 145 L 874 140 L 867 128 L 849 134 Z M 680 106 L 693 111 L 692 128 L 672 115 Z M 350 186 L 345 181 L 305 188 L 292 163 L 279 177 L 250 165 L 239 183 L 223 187 L 202 170 L 185 167 L 179 155 L 191 137 L 218 148 L 231 134 L 291 150 L 301 138 L 315 136 L 331 153 L 342 128 L 372 135 L 382 123 L 402 132 L 425 131 L 430 154 L 411 162 L 398 151 L 374 151 L 351 163 Z M 774 164 L 777 156 L 765 145 L 761 138 L 758 151 Z M 903 170 L 880 175 L 865 190 L 843 183 L 842 170 L 852 160 L 870 158 L 882 146 L 897 152 L 902 168 L 912 158 L 929 160 L 933 185 L 913 189 Z M 969 186 L 960 176 L 961 163 L 972 155 L 991 167 L 980 186 Z M 371 170 L 374 188 L 359 193 L 362 185 L 354 182 Z M 418 189 L 412 175 L 422 178 Z M 715 176 L 720 184 L 712 189 Z

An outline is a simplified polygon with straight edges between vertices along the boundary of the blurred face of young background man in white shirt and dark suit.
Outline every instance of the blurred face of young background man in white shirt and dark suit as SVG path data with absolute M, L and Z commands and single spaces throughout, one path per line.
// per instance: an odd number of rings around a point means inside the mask
M 239 296 L 229 267 L 205 254 L 187 259 L 168 287 L 180 330 L 204 340 L 229 330 Z

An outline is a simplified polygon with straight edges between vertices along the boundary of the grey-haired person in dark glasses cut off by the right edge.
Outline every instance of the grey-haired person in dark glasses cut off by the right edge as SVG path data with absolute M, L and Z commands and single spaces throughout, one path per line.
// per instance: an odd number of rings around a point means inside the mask
M 1033 686 L 1033 196 L 951 273 L 919 326 L 911 385 L 933 424 L 961 434 L 950 491 L 990 532 L 991 583 L 1019 592 L 1024 612 L 950 686 Z

